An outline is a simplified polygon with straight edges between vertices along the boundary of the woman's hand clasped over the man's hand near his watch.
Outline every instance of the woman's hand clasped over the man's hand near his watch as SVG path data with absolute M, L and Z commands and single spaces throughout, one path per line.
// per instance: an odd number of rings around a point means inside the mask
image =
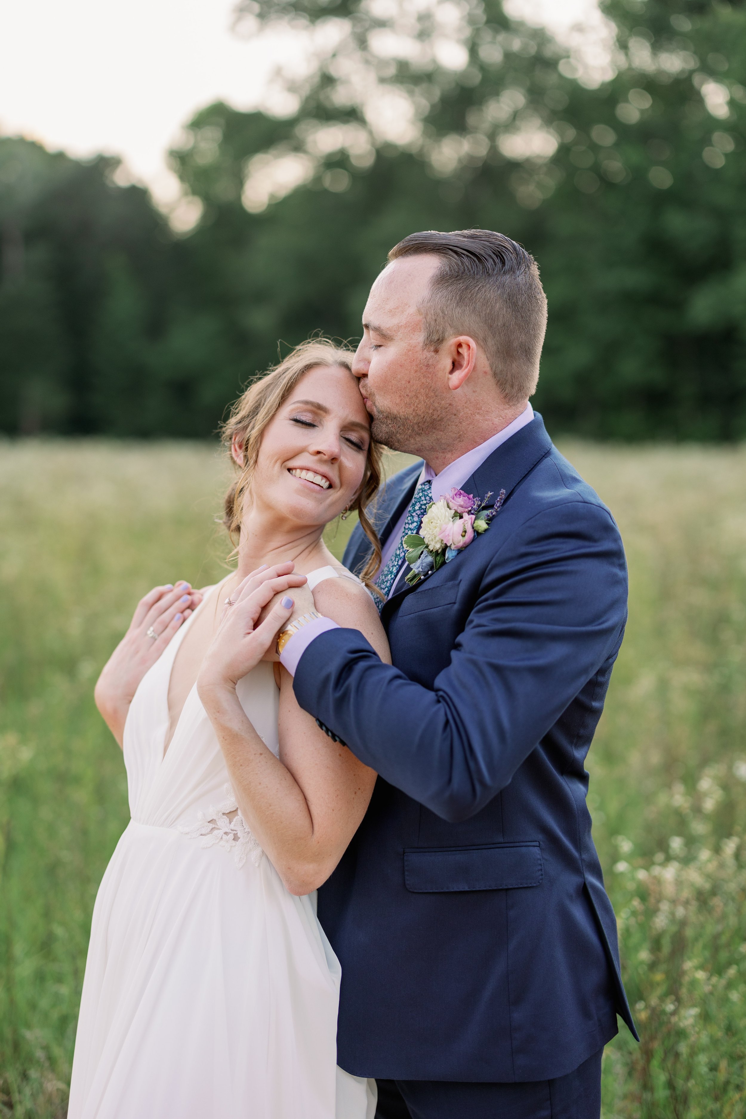
M 210 692 L 235 688 L 265 658 L 295 612 L 291 595 L 304 589 L 305 582 L 305 575 L 293 574 L 292 563 L 284 563 L 252 572 L 233 592 L 197 677 L 202 704 Z M 276 601 L 263 618 L 273 599 Z

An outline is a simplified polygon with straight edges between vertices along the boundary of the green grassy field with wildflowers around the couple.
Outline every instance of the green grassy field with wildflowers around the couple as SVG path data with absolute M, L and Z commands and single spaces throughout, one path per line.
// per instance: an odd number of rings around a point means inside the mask
M 607 1047 L 604 1119 L 735 1119 L 746 451 L 563 450 L 614 513 L 631 575 L 588 768 L 642 1043 Z M 93 684 L 143 591 L 225 572 L 225 477 L 204 445 L 0 443 L 0 1116 L 65 1115 L 91 912 L 129 818 Z

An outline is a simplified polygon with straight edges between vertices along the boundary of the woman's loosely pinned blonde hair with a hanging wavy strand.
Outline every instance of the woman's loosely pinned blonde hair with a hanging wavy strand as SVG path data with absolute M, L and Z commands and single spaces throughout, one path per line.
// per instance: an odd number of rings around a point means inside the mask
M 228 420 L 223 424 L 223 443 L 228 451 L 230 461 L 238 470 L 238 478 L 225 496 L 225 516 L 223 524 L 228 529 L 230 538 L 237 546 L 240 536 L 240 517 L 244 498 L 252 483 L 259 453 L 259 444 L 264 429 L 276 415 L 277 410 L 290 396 L 301 377 L 310 369 L 322 366 L 334 368 L 341 366 L 352 374 L 352 351 L 341 346 L 334 346 L 325 339 L 311 339 L 291 350 L 286 358 L 273 366 L 267 373 L 259 375 L 246 392 L 238 397 L 230 410 Z M 232 454 L 235 438 L 240 440 L 244 452 L 244 464 L 238 467 Z M 374 591 L 378 589 L 372 577 L 380 566 L 380 540 L 366 509 L 378 492 L 381 481 L 381 446 L 370 440 L 366 467 L 360 490 L 350 504 L 350 509 L 357 509 L 360 527 L 370 540 L 372 552 L 360 573 L 360 579 Z M 380 592 L 378 592 L 380 593 Z

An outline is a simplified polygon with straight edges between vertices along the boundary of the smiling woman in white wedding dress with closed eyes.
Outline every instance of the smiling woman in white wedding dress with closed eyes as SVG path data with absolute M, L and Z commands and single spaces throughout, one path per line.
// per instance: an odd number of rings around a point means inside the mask
M 350 355 L 299 347 L 224 434 L 236 572 L 145 595 L 96 685 L 132 819 L 94 909 L 69 1119 L 375 1112 L 375 1082 L 336 1068 L 340 967 L 315 890 L 376 774 L 301 711 L 275 651 L 315 602 L 389 659 L 370 594 L 322 540 L 358 509 L 369 582 L 379 449 Z

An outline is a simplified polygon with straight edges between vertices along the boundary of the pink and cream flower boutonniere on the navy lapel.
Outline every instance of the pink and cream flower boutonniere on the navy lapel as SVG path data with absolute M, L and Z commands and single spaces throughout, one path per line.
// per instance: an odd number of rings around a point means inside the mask
M 407 574 L 409 586 L 416 586 L 444 563 L 455 560 L 475 536 L 488 530 L 506 499 L 506 491 L 500 490 L 492 506 L 489 504 L 491 497 L 488 493 L 478 501 L 471 493 L 452 489 L 447 497 L 431 501 L 419 526 L 421 535 L 404 538 L 406 561 L 412 567 Z

